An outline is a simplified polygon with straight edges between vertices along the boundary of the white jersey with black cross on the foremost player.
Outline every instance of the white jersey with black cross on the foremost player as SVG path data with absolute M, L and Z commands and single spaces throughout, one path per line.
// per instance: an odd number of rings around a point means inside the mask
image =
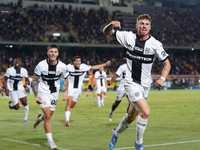
M 116 31 L 115 36 L 126 52 L 126 79 L 149 87 L 153 81 L 151 69 L 155 58 L 165 61 L 168 57 L 162 43 L 151 35 L 147 40 L 141 41 L 131 31 Z

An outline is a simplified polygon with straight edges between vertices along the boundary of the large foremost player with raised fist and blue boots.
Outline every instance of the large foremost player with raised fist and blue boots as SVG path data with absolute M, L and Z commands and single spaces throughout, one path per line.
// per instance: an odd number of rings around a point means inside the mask
M 150 115 L 150 108 L 146 101 L 150 85 L 152 83 L 151 69 L 156 57 L 163 62 L 164 68 L 155 85 L 162 87 L 171 69 L 168 54 L 161 42 L 149 34 L 151 29 L 151 17 L 148 14 L 140 15 L 136 20 L 137 33 L 132 31 L 119 31 L 119 21 L 112 21 L 104 27 L 103 32 L 107 36 L 115 36 L 117 41 L 124 47 L 126 52 L 127 71 L 124 87 L 129 99 L 128 114 L 125 115 L 119 126 L 112 130 L 112 138 L 109 148 L 114 149 L 117 138 L 137 118 L 136 125 L 136 150 L 144 150 L 143 134 Z

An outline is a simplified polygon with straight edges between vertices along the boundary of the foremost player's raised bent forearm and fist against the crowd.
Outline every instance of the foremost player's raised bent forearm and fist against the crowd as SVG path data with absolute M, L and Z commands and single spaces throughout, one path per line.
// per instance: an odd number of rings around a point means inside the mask
M 112 21 L 107 26 L 103 28 L 103 33 L 107 36 L 114 36 L 115 30 L 113 28 L 121 29 L 121 24 L 119 21 Z

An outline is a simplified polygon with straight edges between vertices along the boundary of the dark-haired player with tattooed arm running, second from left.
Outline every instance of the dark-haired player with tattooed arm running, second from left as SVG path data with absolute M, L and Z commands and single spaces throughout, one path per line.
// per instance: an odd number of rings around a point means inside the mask
M 57 59 L 58 48 L 53 44 L 47 47 L 48 58 L 40 61 L 36 66 L 32 83 L 36 103 L 43 111 L 43 115 L 38 115 L 34 128 L 44 120 L 44 129 L 51 149 L 57 149 L 57 146 L 53 141 L 50 119 L 59 97 L 60 78 L 66 78 L 66 65 Z

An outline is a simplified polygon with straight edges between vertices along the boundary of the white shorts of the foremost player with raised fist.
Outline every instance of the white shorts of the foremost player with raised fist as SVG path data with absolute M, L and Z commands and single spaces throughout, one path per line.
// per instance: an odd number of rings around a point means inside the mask
M 150 87 L 143 87 L 131 81 L 127 81 L 124 87 L 129 100 L 133 104 L 139 99 L 147 99 L 150 91 Z

